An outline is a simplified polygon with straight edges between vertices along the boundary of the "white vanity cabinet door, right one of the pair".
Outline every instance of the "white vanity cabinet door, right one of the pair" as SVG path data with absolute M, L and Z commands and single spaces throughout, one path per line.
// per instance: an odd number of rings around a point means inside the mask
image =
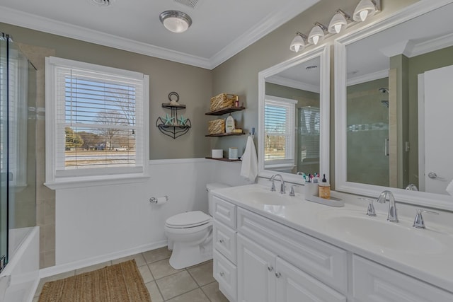
M 346 297 L 277 257 L 278 302 L 345 302 Z

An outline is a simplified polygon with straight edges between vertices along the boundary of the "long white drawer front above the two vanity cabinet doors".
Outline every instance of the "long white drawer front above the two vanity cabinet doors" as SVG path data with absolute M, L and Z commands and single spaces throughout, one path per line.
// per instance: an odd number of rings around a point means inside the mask
M 253 238 L 311 276 L 348 291 L 347 252 L 245 209 L 238 210 L 238 232 Z

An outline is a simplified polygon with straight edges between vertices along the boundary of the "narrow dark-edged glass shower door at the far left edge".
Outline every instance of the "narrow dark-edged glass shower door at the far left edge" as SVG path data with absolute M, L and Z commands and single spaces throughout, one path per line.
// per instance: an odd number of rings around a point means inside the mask
M 0 270 L 8 256 L 8 40 L 0 33 Z

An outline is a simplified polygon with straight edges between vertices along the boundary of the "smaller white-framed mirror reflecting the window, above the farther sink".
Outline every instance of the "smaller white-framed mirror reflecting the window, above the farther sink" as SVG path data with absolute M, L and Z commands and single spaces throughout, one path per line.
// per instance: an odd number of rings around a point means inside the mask
M 329 50 L 317 47 L 258 74 L 258 170 L 303 183 L 329 178 Z

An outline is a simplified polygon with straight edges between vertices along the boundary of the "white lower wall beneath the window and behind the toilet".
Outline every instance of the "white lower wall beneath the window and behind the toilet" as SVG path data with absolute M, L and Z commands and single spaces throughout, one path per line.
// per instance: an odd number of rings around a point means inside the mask
M 166 245 L 166 219 L 183 211 L 207 212 L 206 184 L 246 184 L 240 168 L 205 158 L 157 160 L 149 162 L 151 178 L 145 182 L 57 190 L 57 267 L 83 267 Z M 166 204 L 149 203 L 164 195 Z

